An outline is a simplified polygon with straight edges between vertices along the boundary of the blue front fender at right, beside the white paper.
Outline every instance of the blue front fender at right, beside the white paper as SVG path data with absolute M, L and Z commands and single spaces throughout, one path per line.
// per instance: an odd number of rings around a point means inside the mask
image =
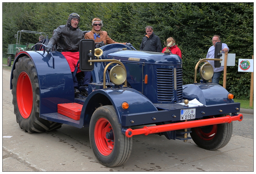
M 234 103 L 228 99 L 229 92 L 216 83 L 194 83 L 183 85 L 183 99 L 197 99 L 204 105 Z

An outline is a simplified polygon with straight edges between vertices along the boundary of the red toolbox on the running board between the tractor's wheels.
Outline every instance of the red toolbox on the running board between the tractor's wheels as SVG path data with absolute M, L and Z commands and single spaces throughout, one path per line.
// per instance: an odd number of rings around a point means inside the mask
M 58 113 L 74 120 L 80 120 L 82 107 L 83 105 L 78 103 L 61 103 L 58 104 Z

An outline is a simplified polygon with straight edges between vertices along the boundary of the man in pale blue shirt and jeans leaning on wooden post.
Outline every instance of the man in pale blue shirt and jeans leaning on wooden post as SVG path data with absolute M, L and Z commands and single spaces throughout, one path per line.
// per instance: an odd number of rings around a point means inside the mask
M 214 35 L 212 37 L 212 44 L 213 46 L 211 46 L 207 52 L 206 58 L 210 58 L 210 59 L 214 59 L 214 52 L 215 52 L 215 44 L 216 42 L 220 42 L 220 36 L 219 35 Z M 229 48 L 227 46 L 227 44 L 222 43 L 222 53 L 223 51 L 229 51 Z M 212 77 L 212 83 L 217 83 L 219 84 L 220 81 L 220 75 L 222 73 L 222 71 L 224 70 L 224 66 L 221 66 L 220 68 L 215 68 L 214 67 L 214 60 L 208 60 L 208 62 L 211 64 L 212 68 L 213 68 L 213 77 Z

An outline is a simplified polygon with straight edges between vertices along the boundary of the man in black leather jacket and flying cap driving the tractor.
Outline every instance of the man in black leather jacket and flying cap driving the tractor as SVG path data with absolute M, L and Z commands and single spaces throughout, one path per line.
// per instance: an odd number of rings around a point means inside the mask
M 79 29 L 78 24 L 80 22 L 80 16 L 77 13 L 71 13 L 68 17 L 67 24 L 58 26 L 49 40 L 48 45 L 45 47 L 45 50 L 49 53 L 50 50 L 57 44 L 57 50 L 62 53 L 62 55 L 67 59 L 71 73 L 73 74 L 76 64 L 79 60 L 79 44 L 80 40 L 83 38 L 83 32 Z M 80 72 L 79 66 L 77 73 Z M 90 75 L 91 72 L 86 75 Z M 83 82 L 83 85 L 88 84 L 88 81 Z M 74 92 L 79 94 L 78 82 L 77 79 L 74 79 Z

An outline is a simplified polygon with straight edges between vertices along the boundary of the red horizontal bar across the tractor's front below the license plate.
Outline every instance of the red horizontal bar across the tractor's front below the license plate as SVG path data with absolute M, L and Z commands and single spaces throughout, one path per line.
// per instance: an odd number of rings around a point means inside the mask
M 171 130 L 179 130 L 185 128 L 192 128 L 192 127 L 200 127 L 200 126 L 208 126 L 214 124 L 221 124 L 221 123 L 231 123 L 232 121 L 242 121 L 243 115 L 238 114 L 236 116 L 227 115 L 225 117 L 217 117 L 217 118 L 208 118 L 202 120 L 194 120 L 188 122 L 180 122 L 180 123 L 172 123 L 172 124 L 164 124 L 158 126 L 144 126 L 141 129 L 126 129 L 125 136 L 130 138 L 133 135 L 148 135 L 148 134 L 155 134 L 159 132 L 166 132 Z

